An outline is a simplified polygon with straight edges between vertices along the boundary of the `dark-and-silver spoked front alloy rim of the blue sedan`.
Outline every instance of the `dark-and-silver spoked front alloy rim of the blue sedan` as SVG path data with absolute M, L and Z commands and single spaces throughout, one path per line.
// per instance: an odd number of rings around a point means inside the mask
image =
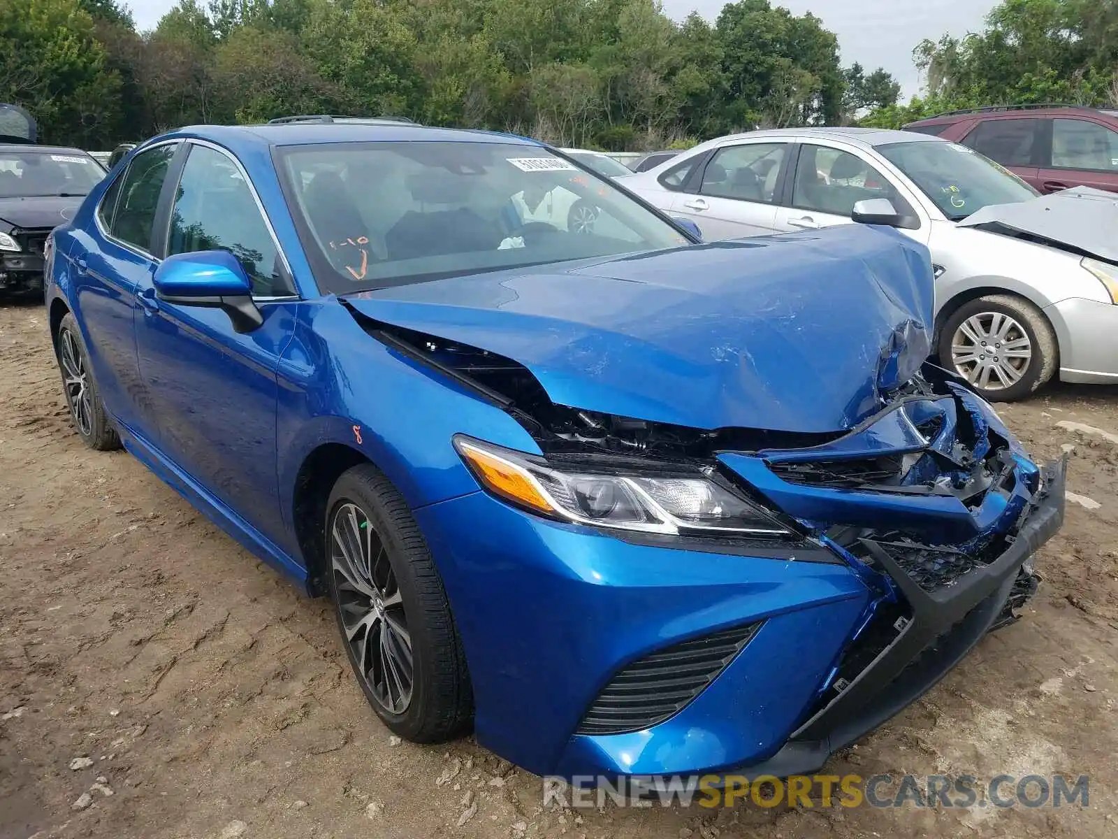
M 411 634 L 388 552 L 369 516 L 350 501 L 330 522 L 330 563 L 345 642 L 373 698 L 389 714 L 411 703 Z

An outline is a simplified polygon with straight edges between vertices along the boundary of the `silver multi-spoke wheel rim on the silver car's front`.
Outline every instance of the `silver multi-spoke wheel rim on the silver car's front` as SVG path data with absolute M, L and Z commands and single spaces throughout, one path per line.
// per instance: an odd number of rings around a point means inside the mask
M 1029 333 L 1003 312 L 972 315 L 951 337 L 956 371 L 984 390 L 1003 390 L 1017 384 L 1032 359 Z

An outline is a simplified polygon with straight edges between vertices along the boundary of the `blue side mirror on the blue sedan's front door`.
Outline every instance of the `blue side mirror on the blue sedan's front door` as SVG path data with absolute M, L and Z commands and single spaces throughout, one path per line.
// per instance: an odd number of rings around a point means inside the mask
M 155 268 L 152 284 L 157 300 L 225 310 L 238 332 L 252 332 L 264 323 L 248 275 L 228 251 L 168 256 Z

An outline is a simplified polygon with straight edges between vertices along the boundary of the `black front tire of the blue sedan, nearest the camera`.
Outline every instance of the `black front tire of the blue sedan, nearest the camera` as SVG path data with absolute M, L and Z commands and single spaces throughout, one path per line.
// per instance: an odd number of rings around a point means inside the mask
M 377 607 L 396 598 L 398 593 L 402 615 L 390 611 L 396 606 L 383 609 L 380 614 L 402 616 L 406 634 L 410 635 L 413 679 L 408 704 L 402 709 L 387 707 L 386 697 L 381 695 L 383 691 L 372 684 L 376 681 L 372 675 L 375 666 L 370 664 L 367 675 L 354 644 L 347 638 L 343 609 L 353 624 L 361 607 L 357 601 L 362 595 L 337 571 L 334 563 L 339 549 L 335 547 L 334 525 L 348 520 L 349 511 L 354 509 L 363 513 L 371 526 L 369 538 L 379 537 L 383 547 L 383 554 L 377 552 L 378 557 L 382 557 L 379 578 L 385 578 L 385 560 L 395 577 L 395 586 L 389 583 L 378 588 L 377 594 L 385 596 L 383 600 L 378 597 Z M 344 513 L 345 518 L 335 521 L 340 513 Z M 463 734 L 473 722 L 474 700 L 462 639 L 451 614 L 442 577 L 404 498 L 376 466 L 353 466 L 338 479 L 330 493 L 324 536 L 326 579 L 342 644 L 358 684 L 377 716 L 395 734 L 414 743 L 438 743 Z M 377 567 L 378 564 L 369 565 Z M 378 578 L 378 573 L 370 571 L 369 578 Z M 380 625 L 388 623 L 382 618 Z M 391 632 L 389 637 L 392 638 Z M 380 667 L 383 667 L 383 659 Z M 392 694 L 387 696 L 391 698 Z

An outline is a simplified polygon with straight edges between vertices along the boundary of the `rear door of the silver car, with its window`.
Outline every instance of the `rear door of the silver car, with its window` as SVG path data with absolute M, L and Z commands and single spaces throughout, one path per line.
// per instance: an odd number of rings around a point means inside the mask
M 698 224 L 708 242 L 774 233 L 792 149 L 774 141 L 723 145 L 698 182 L 675 196 L 672 215 Z

